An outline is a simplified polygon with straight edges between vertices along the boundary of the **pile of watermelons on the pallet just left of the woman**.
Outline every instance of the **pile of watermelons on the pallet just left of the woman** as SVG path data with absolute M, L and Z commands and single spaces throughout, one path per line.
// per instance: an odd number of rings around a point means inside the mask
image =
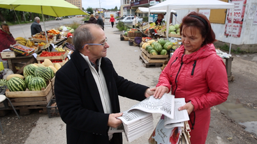
M 147 50 L 152 55 L 166 55 L 173 47 L 172 42 L 159 38 L 158 41 L 149 40 L 146 44 L 142 45 L 142 48 Z

